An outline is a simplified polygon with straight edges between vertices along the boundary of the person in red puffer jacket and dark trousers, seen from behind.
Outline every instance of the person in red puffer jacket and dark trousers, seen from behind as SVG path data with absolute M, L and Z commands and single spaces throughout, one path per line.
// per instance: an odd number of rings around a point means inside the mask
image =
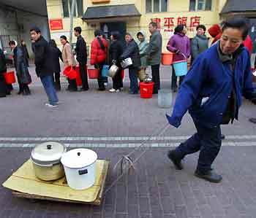
M 107 61 L 108 42 L 102 37 L 100 30 L 94 31 L 94 40 L 91 42 L 90 64 L 99 69 L 98 85 L 100 91 L 105 90 L 104 78 L 102 77 L 102 68 Z

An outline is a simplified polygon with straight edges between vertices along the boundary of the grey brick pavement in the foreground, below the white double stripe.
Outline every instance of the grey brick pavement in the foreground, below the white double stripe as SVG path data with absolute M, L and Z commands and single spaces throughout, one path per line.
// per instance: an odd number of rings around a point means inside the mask
M 176 171 L 168 148 L 149 148 L 136 165 L 105 195 L 102 206 L 16 198 L 0 187 L 1 218 L 254 218 L 256 214 L 255 147 L 222 147 L 214 168 L 220 184 L 193 176 L 197 155 L 187 156 Z M 129 148 L 95 148 L 99 159 L 111 161 L 107 188 L 116 179 L 113 165 Z M 136 155 L 142 150 L 139 149 Z M 0 182 L 25 162 L 31 149 L 1 148 Z

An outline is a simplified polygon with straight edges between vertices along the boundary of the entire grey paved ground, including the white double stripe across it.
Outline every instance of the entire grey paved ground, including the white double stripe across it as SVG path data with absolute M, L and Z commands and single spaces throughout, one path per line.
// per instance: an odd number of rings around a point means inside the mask
M 33 74 L 32 95 L 17 96 L 15 87 L 12 96 L 0 101 L 1 183 L 29 158 L 35 144 L 61 141 L 69 149 L 89 147 L 100 159 L 110 160 L 108 188 L 116 179 L 113 165 L 117 160 L 167 123 L 165 113 L 170 114 L 171 109 L 160 109 L 157 96 L 141 99 L 129 95 L 127 74 L 121 93 L 97 91 L 95 79 L 89 79 L 88 92 L 68 93 L 64 90 L 67 82 L 61 78 L 61 104 L 49 109 L 44 106 L 46 95 L 34 67 L 29 70 Z M 170 67 L 162 67 L 162 87 L 169 90 L 170 75 Z M 227 139 L 213 166 L 224 178 L 220 184 L 193 176 L 197 155 L 186 157 L 183 171 L 176 171 L 167 159 L 168 149 L 195 132 L 186 115 L 180 128 L 168 128 L 163 136 L 138 150 L 137 155 L 148 148 L 136 166 L 136 174 L 121 179 L 105 195 L 102 206 L 29 201 L 15 198 L 10 190 L 0 187 L 0 217 L 255 218 L 256 125 L 248 122 L 255 116 L 255 106 L 244 100 L 239 122 L 223 126 Z

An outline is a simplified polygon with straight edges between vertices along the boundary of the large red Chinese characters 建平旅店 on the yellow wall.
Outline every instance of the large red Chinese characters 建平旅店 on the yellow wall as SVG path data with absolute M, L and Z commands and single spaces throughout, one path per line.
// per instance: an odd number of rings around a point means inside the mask
M 163 23 L 163 29 L 165 32 L 173 32 L 174 28 L 180 24 L 187 26 L 188 31 L 194 31 L 194 29 L 200 24 L 200 17 L 165 17 L 163 20 L 161 18 L 151 18 L 151 21 L 157 23 L 157 29 L 161 30 Z M 188 23 L 189 22 L 189 23 Z

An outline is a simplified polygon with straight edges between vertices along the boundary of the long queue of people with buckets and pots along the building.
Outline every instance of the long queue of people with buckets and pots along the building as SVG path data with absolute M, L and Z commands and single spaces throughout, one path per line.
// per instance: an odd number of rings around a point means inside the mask
M 149 42 L 143 31 L 139 31 L 135 35 L 135 39 L 132 34 L 125 34 L 125 46 L 121 43 L 122 39 L 118 31 L 110 33 L 110 40 L 105 39 L 105 34 L 102 31 L 94 31 L 94 39 L 91 42 L 90 64 L 94 66 L 95 69 L 99 69 L 99 77 L 97 79 L 99 91 L 104 91 L 106 88 L 105 86 L 108 84 L 108 79 L 102 75 L 103 66 L 108 65 L 111 67 L 113 64 L 118 66 L 118 71 L 116 72 L 115 77 L 112 78 L 113 87 L 110 88 L 109 91 L 110 93 L 118 93 L 123 89 L 121 62 L 127 58 L 131 58 L 132 64 L 128 67 L 130 80 L 129 93 L 139 93 L 138 82 L 143 82 L 143 79 L 145 79 L 148 66 L 151 66 L 152 81 L 154 82 L 153 94 L 158 93 L 158 90 L 160 89 L 159 66 L 162 55 L 162 35 L 157 29 L 157 23 L 154 22 L 149 23 L 148 31 L 151 34 Z M 176 26 L 173 36 L 170 36 L 166 45 L 167 50 L 174 53 L 173 61 L 187 59 L 188 62 L 194 63 L 197 57 L 208 49 L 209 39 L 206 36 L 206 26 L 199 25 L 197 26 L 196 31 L 196 36 L 190 40 L 187 36 L 186 26 Z M 57 106 L 59 102 L 56 90 L 61 90 L 60 60 L 63 62 L 64 68 L 72 66 L 73 69 L 76 69 L 76 63 L 78 62 L 80 79 L 82 81 L 80 91 L 89 90 L 86 69 L 88 58 L 86 41 L 83 39 L 83 36 L 81 36 L 81 32 L 82 29 L 79 26 L 74 28 L 77 42 L 75 52 L 73 52 L 66 36 L 60 36 L 62 50 L 59 50 L 53 39 L 51 39 L 49 43 L 46 42 L 42 37 L 39 28 L 31 29 L 31 42 L 35 54 L 36 72 L 37 76 L 40 77 L 42 81 L 42 85 L 45 87 L 50 106 Z M 208 32 L 211 36 L 215 36 L 215 43 L 219 42 L 219 38 L 222 36 L 221 25 L 212 26 L 209 28 Z M 249 36 L 246 36 L 246 39 L 248 39 L 248 37 Z M 244 44 L 246 44 L 246 41 L 244 41 Z M 15 69 L 20 87 L 18 93 L 30 95 L 29 83 L 31 82 L 31 77 L 28 71 L 29 52 L 26 49 L 26 44 L 22 40 L 21 45 L 17 46 L 11 41 L 10 47 L 12 47 L 14 52 Z M 1 59 L 4 60 L 4 58 Z M 1 60 L 1 65 L 3 66 L 2 63 L 4 63 L 4 61 Z M 178 87 L 181 87 L 181 83 L 185 76 L 177 78 L 175 69 L 173 66 L 171 67 L 171 90 L 175 93 L 178 90 Z M 22 71 L 20 69 L 22 69 Z M 6 71 L 6 69 L 2 67 L 2 71 Z M 178 79 L 179 85 L 177 85 Z M 76 79 L 67 78 L 67 81 L 69 84 L 67 90 L 70 92 L 77 92 L 78 85 Z M 11 90 L 10 85 L 5 86 L 6 87 L 1 87 L 3 96 L 4 93 L 5 95 L 9 94 Z

